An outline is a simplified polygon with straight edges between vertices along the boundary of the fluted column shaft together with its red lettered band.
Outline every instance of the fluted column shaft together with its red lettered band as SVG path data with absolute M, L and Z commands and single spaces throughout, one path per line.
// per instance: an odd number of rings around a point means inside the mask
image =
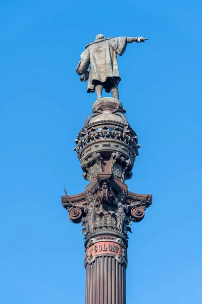
M 86 242 L 85 304 L 125 304 L 127 241 L 98 235 Z

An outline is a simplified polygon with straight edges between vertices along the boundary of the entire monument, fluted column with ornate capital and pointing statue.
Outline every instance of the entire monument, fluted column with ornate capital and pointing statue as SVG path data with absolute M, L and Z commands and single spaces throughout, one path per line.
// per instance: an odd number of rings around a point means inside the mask
M 84 179 L 89 181 L 83 193 L 62 196 L 69 219 L 81 223 L 85 239 L 85 304 L 125 304 L 128 232 L 132 222 L 144 218 L 151 195 L 128 191 L 125 181 L 132 169 L 140 145 L 135 131 L 118 100 L 120 75 L 117 54 L 127 43 L 144 42 L 143 37 L 106 39 L 97 35 L 86 46 L 76 69 L 88 79 L 88 92 L 96 91 L 92 114 L 75 139 L 77 157 Z M 90 70 L 88 69 L 90 66 Z M 103 88 L 114 98 L 102 98 Z

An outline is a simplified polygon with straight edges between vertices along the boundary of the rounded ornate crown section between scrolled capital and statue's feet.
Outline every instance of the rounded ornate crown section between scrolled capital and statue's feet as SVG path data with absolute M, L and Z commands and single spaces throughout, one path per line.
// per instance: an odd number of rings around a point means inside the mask
M 83 177 L 93 182 L 98 172 L 113 172 L 122 182 L 132 177 L 132 168 L 138 156 L 138 138 L 126 116 L 113 98 L 95 102 L 98 112 L 89 116 L 79 132 L 74 150 L 81 163 Z M 115 106 L 117 104 L 117 106 Z M 119 106 L 118 106 L 119 105 Z

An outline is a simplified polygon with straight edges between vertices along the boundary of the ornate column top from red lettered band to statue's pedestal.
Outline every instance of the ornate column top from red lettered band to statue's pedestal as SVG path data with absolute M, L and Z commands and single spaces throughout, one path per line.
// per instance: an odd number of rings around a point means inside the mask
M 75 140 L 89 184 L 78 195 L 68 196 L 65 190 L 62 205 L 70 220 L 83 226 L 86 269 L 101 256 L 127 267 L 130 225 L 144 218 L 151 195 L 129 192 L 124 183 L 132 176 L 140 145 L 120 101 L 100 98 L 93 109 Z

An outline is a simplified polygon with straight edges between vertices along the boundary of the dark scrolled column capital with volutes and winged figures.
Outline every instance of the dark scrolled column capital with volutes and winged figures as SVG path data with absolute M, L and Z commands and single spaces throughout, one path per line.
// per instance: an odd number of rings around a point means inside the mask
M 144 210 L 151 205 L 151 197 L 128 193 L 126 185 L 121 188 L 112 172 L 97 174 L 96 182 L 85 193 L 79 197 L 69 197 L 66 193 L 62 204 L 69 211 L 72 222 L 82 222 L 85 239 L 100 233 L 118 233 L 128 239 L 131 221 L 143 219 Z

